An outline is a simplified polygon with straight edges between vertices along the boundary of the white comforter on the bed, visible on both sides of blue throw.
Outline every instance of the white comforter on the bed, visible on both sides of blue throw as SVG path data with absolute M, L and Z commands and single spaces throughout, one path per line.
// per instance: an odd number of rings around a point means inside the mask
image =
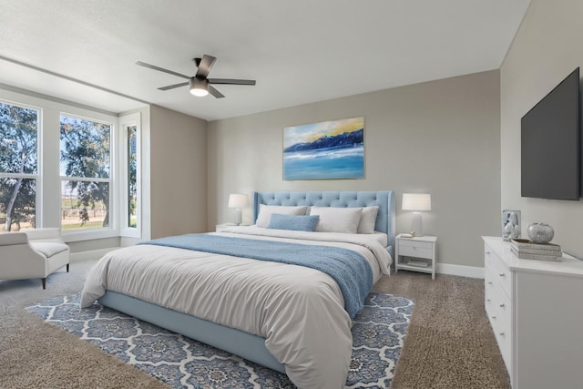
M 237 233 L 237 235 L 234 235 Z M 358 251 L 374 282 L 392 261 L 374 235 L 233 228 L 220 235 L 323 244 Z M 300 388 L 343 387 L 351 320 L 329 275 L 302 266 L 154 245 L 111 251 L 87 275 L 81 306 L 106 290 L 127 294 L 265 338 Z

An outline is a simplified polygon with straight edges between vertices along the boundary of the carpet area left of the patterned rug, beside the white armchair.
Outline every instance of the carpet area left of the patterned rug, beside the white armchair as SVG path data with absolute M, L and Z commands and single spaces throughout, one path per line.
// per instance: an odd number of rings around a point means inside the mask
M 0 388 L 169 388 L 23 309 L 81 291 L 94 263 L 71 263 L 46 279 L 46 291 L 40 280 L 0 282 Z

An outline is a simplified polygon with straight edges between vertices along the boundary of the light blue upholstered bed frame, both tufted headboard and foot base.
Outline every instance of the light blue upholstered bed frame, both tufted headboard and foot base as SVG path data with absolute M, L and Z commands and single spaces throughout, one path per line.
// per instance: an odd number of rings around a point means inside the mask
M 379 214 L 375 230 L 388 234 L 389 247 L 387 250 L 393 255 L 395 225 L 393 190 L 253 192 L 253 220 L 257 220 L 259 204 L 315 205 L 319 207 L 370 207 L 378 205 Z M 140 320 L 151 322 L 159 327 L 285 373 L 285 367 L 271 355 L 265 347 L 265 338 L 260 336 L 208 322 L 118 292 L 107 291 L 98 302 Z

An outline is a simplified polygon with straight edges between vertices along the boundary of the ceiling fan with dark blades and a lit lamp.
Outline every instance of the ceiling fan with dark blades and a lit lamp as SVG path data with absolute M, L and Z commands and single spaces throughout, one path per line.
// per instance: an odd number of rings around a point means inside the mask
M 207 56 L 206 54 L 202 58 L 193 58 L 193 61 L 198 67 L 197 74 L 189 77 L 182 75 L 172 70 L 165 69 L 163 67 L 157 67 L 154 65 L 147 64 L 145 62 L 138 61 L 136 65 L 140 67 L 148 67 L 150 69 L 158 70 L 159 72 L 168 73 L 170 75 L 187 78 L 188 82 L 181 82 L 179 84 L 169 85 L 168 87 L 159 87 L 159 90 L 169 90 L 175 87 L 186 87 L 190 88 L 190 93 L 194 96 L 207 96 L 209 93 L 217 98 L 225 97 L 220 93 L 215 87 L 210 84 L 226 84 L 226 85 L 255 85 L 254 79 L 233 79 L 233 78 L 208 78 L 210 73 L 210 68 L 215 64 L 217 58 L 214 56 Z

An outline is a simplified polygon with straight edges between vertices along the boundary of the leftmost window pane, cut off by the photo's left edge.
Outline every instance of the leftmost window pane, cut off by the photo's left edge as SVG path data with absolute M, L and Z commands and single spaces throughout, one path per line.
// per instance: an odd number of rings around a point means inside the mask
M 39 111 L 0 103 L 0 223 L 3 231 L 36 227 Z

